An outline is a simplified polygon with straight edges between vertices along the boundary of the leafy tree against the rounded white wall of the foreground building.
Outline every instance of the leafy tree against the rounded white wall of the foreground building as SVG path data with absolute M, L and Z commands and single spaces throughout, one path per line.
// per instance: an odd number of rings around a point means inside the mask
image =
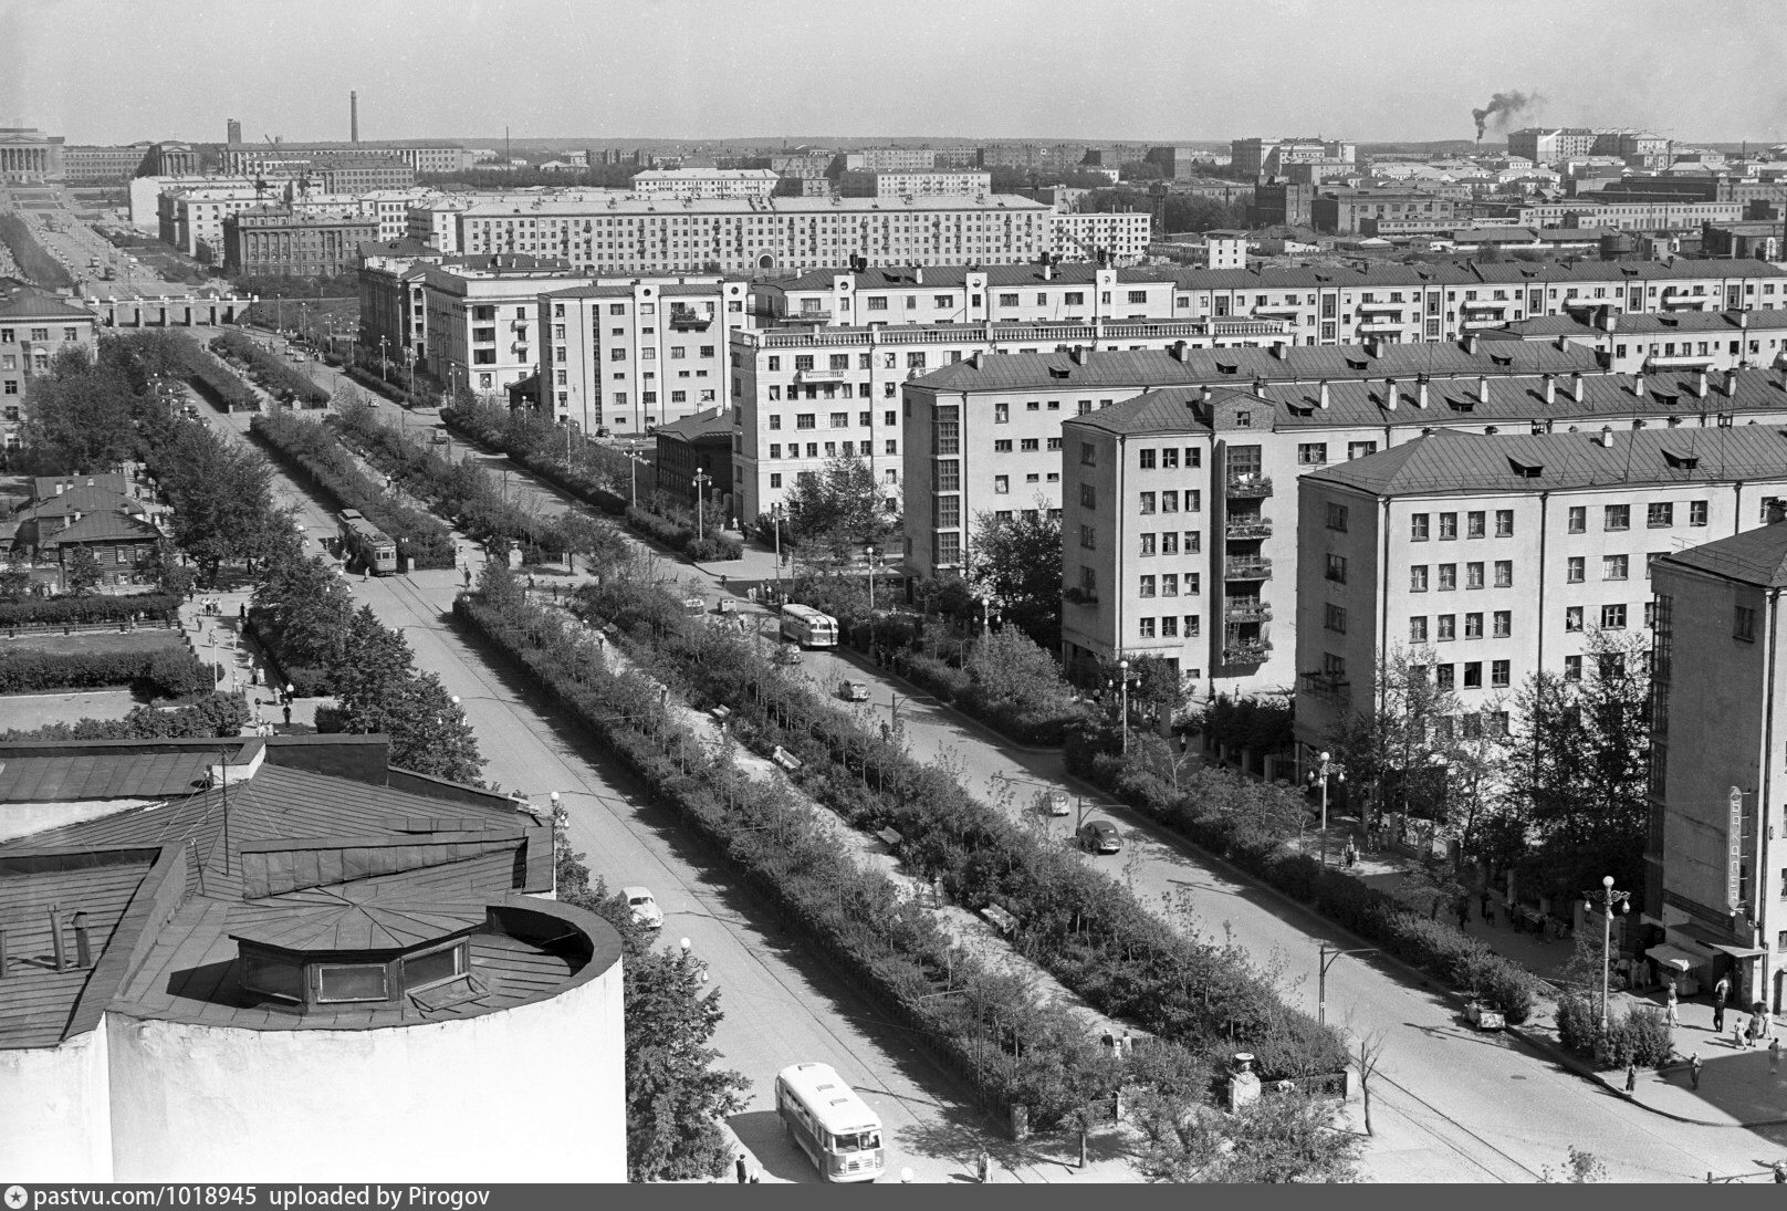
M 627 1181 L 718 1177 L 731 1147 L 718 1120 L 743 1109 L 743 1075 L 713 1066 L 709 1045 L 726 1016 L 718 990 L 702 997 L 699 959 L 654 950 L 650 932 L 633 922 L 625 897 L 590 882 L 583 854 L 563 832 L 558 898 L 608 920 L 620 934 L 627 1018 Z

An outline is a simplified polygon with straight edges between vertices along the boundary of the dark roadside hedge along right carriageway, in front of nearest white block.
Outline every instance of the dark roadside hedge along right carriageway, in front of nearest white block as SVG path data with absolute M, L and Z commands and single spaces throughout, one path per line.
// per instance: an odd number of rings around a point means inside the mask
M 1519 1025 L 1533 1013 L 1533 979 L 1464 931 L 1408 909 L 1396 897 L 1303 854 L 1285 850 L 1278 836 L 1247 831 L 1242 820 L 1204 809 L 1208 795 L 1181 793 L 1133 761 L 1101 752 L 1074 736 L 1067 768 L 1113 798 L 1174 829 L 1203 848 L 1226 857 L 1262 882 L 1313 902 L 1322 916 L 1374 941 L 1472 997 L 1481 997 Z

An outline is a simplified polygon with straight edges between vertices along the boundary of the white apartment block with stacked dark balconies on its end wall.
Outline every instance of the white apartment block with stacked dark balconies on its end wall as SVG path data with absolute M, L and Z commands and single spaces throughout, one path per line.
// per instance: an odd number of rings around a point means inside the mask
M 1078 597 L 1063 607 L 1063 659 L 1163 656 L 1210 695 L 1294 686 L 1310 672 L 1297 638 L 1310 538 L 1296 509 L 1278 502 L 1294 498 L 1303 475 L 1371 455 L 1390 466 L 1405 445 L 1440 429 L 1599 434 L 1610 425 L 1716 447 L 1733 425 L 1787 420 L 1776 372 L 1610 375 L 1576 347 L 1521 345 L 1540 361 L 1505 361 L 1501 350 L 1514 343 L 1485 343 L 1472 372 L 1462 348 L 1440 348 L 1460 354 L 1442 375 L 1408 373 L 1419 364 L 1410 359 L 1356 379 L 1206 380 L 1070 416 L 1060 468 L 1074 480 L 1061 495 L 1063 582 Z M 963 411 L 979 413 L 972 400 Z M 1192 455 L 1181 452 L 1192 448 L 1201 454 L 1187 464 Z M 1176 454 L 1169 461 L 1162 450 Z M 965 488 L 985 479 L 988 463 L 981 457 L 979 472 L 963 473 Z M 908 513 L 917 507 L 908 504 Z M 1197 539 L 1181 534 L 1172 543 L 1179 555 L 1187 543 L 1199 545 L 1192 580 L 1163 561 L 1172 530 L 1156 518 L 1178 522 L 1181 532 L 1197 529 Z M 1160 579 L 1167 573 L 1178 577 L 1170 595 Z M 1172 634 L 1162 622 L 1165 597 L 1181 598 Z M 1187 636 L 1183 618 L 1192 613 L 1199 622 Z

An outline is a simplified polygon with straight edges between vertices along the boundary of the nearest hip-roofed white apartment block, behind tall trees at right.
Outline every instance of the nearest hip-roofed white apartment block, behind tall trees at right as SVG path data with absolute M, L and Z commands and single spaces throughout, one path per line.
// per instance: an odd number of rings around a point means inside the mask
M 1780 395 L 1776 382 L 1757 386 Z M 1342 718 L 1369 716 L 1376 670 L 1396 652 L 1414 654 L 1455 695 L 1460 718 L 1435 723 L 1469 736 L 1505 727 L 1533 673 L 1580 679 L 1598 632 L 1648 645 L 1653 561 L 1716 566 L 1692 548 L 1762 525 L 1787 493 L 1783 409 L 1773 407 L 1773 423 L 1710 430 L 1590 425 L 1490 438 L 1440 429 L 1303 477 L 1297 739 L 1321 748 Z M 1728 604 L 1721 613 L 1701 604 L 1674 602 L 1678 668 L 1689 632 L 1705 631 L 1691 645 L 1698 652 L 1732 620 Z M 1692 681 L 1714 675 L 1691 668 Z M 1730 688 L 1705 684 L 1721 697 Z M 1724 725 L 1723 709 L 1699 693 L 1691 700 Z M 1680 704 L 1669 706 L 1676 716 Z

